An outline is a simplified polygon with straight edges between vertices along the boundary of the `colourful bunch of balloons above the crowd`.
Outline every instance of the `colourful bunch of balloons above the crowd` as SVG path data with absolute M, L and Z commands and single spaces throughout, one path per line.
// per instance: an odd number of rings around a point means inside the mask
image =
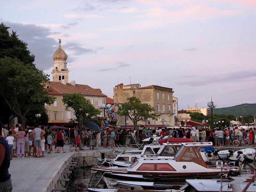
M 107 109 L 107 117 L 104 117 L 102 120 L 103 129 L 107 129 L 109 132 L 112 128 L 118 129 L 120 128 L 119 121 L 116 119 L 116 114 L 114 113 L 116 106 L 113 105 L 111 108 Z

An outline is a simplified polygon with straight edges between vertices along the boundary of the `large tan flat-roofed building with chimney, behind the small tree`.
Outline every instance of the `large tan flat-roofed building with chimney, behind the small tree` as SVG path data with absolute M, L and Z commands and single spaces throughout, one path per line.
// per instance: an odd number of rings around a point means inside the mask
M 176 98 L 177 100 L 174 100 L 172 94 L 173 89 L 168 87 L 158 85 L 141 87 L 140 84 L 124 85 L 121 83 L 114 87 L 114 102 L 124 103 L 127 102 L 128 97 L 137 97 L 142 103 L 148 103 L 151 107 L 154 107 L 154 113 L 160 114 L 157 120 L 147 120 L 147 124 L 161 125 L 163 124 L 162 119 L 164 119 L 165 125 L 173 126 L 175 125 L 175 113 L 178 112 L 178 99 Z M 127 123 L 132 124 L 132 121 L 129 119 Z M 145 120 L 138 122 L 138 124 L 145 123 Z

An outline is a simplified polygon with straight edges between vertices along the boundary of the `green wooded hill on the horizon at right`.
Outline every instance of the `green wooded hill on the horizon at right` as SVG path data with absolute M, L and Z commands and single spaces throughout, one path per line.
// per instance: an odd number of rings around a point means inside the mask
M 244 103 L 244 116 L 246 115 L 256 115 L 256 103 Z M 234 116 L 242 116 L 242 104 L 236 105 L 232 107 L 224 107 L 224 108 L 214 108 L 213 114 L 226 114 L 226 115 L 234 115 Z

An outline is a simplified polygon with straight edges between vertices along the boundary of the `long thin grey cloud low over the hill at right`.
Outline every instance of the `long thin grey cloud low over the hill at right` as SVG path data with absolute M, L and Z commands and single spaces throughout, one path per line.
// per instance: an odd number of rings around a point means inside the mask
M 195 77 L 194 77 L 195 78 Z M 198 86 L 205 86 L 209 84 L 215 84 L 215 83 L 228 83 L 232 82 L 233 84 L 236 84 L 236 82 L 241 82 L 248 78 L 256 78 L 256 71 L 239 71 L 239 72 L 232 72 L 225 75 L 214 75 L 214 76 L 202 76 L 197 79 L 189 78 L 188 81 L 185 79 L 182 80 L 182 82 L 176 83 L 177 85 L 188 85 L 192 87 L 198 87 Z

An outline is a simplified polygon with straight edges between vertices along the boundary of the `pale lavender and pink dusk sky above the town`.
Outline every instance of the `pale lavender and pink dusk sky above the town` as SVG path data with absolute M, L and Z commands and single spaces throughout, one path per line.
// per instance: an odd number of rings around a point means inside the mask
M 118 83 L 174 90 L 178 108 L 256 103 L 255 0 L 1 1 L 51 75 L 61 38 L 69 81 L 113 97 Z M 129 78 L 131 77 L 131 79 Z M 52 80 L 52 76 L 50 77 Z

